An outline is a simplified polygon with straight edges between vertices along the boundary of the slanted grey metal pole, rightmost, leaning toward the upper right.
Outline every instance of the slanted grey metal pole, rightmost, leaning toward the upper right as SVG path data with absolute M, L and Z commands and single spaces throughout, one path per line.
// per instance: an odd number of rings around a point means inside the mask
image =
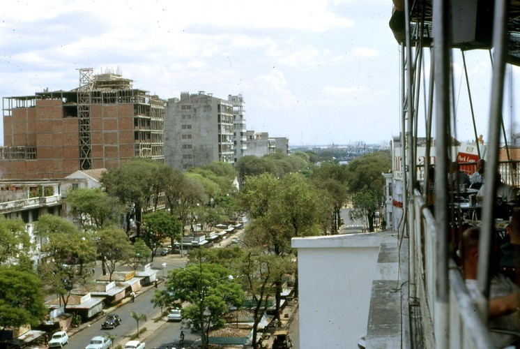
M 502 123 L 502 105 L 504 98 L 505 57 L 507 50 L 506 24 L 507 1 L 495 1 L 493 24 L 493 80 L 491 82 L 491 110 L 489 112 L 489 151 L 487 152 L 486 184 L 484 185 L 484 209 L 480 230 L 479 258 L 477 281 L 482 292 L 478 299 L 482 317 L 487 319 L 487 297 L 489 295 L 489 255 L 491 251 L 491 234 L 494 228 L 494 204 L 496 191 L 494 184 L 498 184 L 498 149 L 500 147 L 500 124 Z

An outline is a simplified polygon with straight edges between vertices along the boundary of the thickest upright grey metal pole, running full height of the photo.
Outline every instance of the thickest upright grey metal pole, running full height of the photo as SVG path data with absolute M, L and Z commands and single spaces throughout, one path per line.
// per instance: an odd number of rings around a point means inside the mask
M 448 137 L 450 120 L 450 20 L 449 2 L 433 1 L 433 34 L 436 92 L 436 186 L 437 233 L 434 328 L 436 348 L 448 348 L 450 317 L 448 289 Z

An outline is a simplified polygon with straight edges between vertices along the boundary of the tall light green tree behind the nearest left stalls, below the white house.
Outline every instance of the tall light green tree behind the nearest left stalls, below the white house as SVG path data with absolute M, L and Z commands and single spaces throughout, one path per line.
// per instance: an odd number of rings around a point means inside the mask
M 80 233 L 70 221 L 44 214 L 34 224 L 34 233 L 47 239 L 41 247 L 47 261 L 38 265 L 38 274 L 45 281 L 48 294 L 57 294 L 66 306 L 70 291 L 76 283 L 87 282 L 84 266 L 94 262 L 96 251 L 93 239 Z

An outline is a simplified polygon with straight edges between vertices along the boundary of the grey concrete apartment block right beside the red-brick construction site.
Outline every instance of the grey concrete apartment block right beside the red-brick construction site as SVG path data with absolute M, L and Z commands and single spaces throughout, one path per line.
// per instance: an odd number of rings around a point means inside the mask
M 234 163 L 233 106 L 204 91 L 170 98 L 165 116 L 165 163 L 179 170 L 212 161 Z

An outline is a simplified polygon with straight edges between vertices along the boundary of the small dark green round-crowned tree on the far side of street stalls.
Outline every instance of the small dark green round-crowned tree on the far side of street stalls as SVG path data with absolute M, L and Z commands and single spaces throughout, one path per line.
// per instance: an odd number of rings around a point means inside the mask
M 151 250 L 151 260 L 163 239 L 169 237 L 171 246 L 174 246 L 174 240 L 181 237 L 181 223 L 167 211 L 153 211 L 145 214 L 143 221 L 143 241 Z

